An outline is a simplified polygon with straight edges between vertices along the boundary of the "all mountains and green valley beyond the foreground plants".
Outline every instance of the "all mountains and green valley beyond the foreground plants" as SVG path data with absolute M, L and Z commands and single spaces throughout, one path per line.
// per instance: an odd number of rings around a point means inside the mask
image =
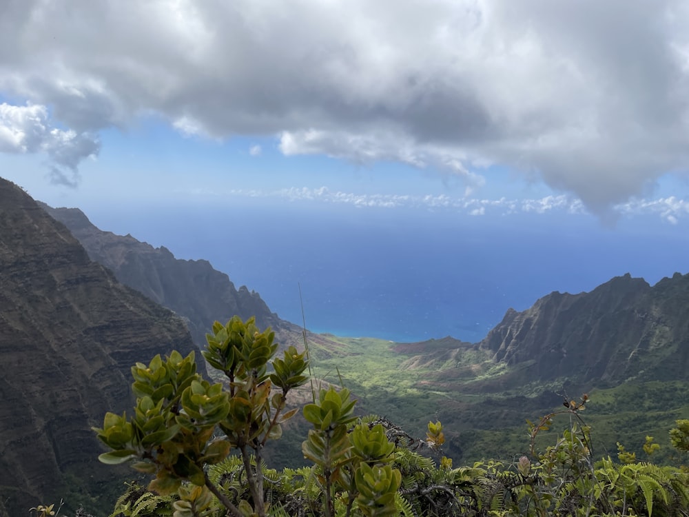
M 300 327 L 207 261 L 103 232 L 80 210 L 39 205 L 0 180 L 7 511 L 65 494 L 83 472 L 84 490 L 104 487 L 113 471 L 95 460 L 89 427 L 131 406 L 130 366 L 203 347 L 212 322 L 233 314 L 255 315 L 285 345 L 302 341 Z M 688 336 L 689 275 L 679 273 L 653 286 L 627 274 L 588 293 L 553 292 L 528 310 L 508 310 L 479 343 L 307 334 L 314 375 L 345 383 L 362 412 L 402 420 L 417 434 L 440 418 L 449 454 L 462 461 L 523 451 L 513 436 L 524 435 L 524 419 L 583 391 L 592 392 L 605 447 L 636 440 L 637 425 L 661 432 L 689 414 Z

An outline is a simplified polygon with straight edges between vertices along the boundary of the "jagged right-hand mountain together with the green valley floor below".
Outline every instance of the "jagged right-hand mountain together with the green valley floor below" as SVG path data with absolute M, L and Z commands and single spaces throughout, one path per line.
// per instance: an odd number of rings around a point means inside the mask
M 668 431 L 689 417 L 689 275 L 650 286 L 626 274 L 591 292 L 553 292 L 508 310 L 478 343 L 338 339 L 318 367 L 415 436 L 442 421 L 457 463 L 528 454 L 524 421 L 584 392 L 600 455 L 614 456 L 619 441 L 644 458 L 641 445 L 655 436 L 672 460 Z

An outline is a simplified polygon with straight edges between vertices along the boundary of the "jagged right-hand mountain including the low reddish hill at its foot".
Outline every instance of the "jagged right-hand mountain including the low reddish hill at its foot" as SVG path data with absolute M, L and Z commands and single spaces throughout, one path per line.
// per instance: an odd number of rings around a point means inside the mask
M 686 380 L 689 274 L 653 286 L 625 274 L 591 292 L 552 292 L 522 312 L 509 309 L 479 343 L 448 337 L 394 349 L 408 356 L 402 367 L 427 367 L 438 382 L 460 378 L 473 392 L 496 381 L 516 389 L 534 382 L 610 387 L 630 379 Z M 488 368 L 500 375 L 476 375 Z

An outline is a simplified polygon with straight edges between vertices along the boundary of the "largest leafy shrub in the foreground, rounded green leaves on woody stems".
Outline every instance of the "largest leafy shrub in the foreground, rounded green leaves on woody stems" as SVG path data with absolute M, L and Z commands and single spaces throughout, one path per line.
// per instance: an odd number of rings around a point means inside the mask
M 278 347 L 274 333 L 258 332 L 254 318 L 216 322 L 207 341 L 203 355 L 227 376 L 229 389 L 196 373 L 193 352 L 185 358 L 172 352 L 165 360 L 158 355 L 148 365 L 136 363 L 134 416 L 107 413 L 103 427 L 94 428 L 112 449 L 99 459 L 111 464 L 132 461 L 139 472 L 155 474 L 148 488 L 161 495 L 178 494 L 176 517 L 203 514 L 210 504 L 207 491 L 233 516 L 262 517 L 267 511 L 261 450 L 267 440 L 280 438 L 281 424 L 296 412 L 284 412 L 286 398 L 307 381 L 307 361 L 294 347 L 271 361 Z M 234 502 L 207 474 L 207 467 L 225 460 L 233 448 L 242 458 L 250 492 L 249 498 Z M 189 489 L 183 481 L 197 488 Z

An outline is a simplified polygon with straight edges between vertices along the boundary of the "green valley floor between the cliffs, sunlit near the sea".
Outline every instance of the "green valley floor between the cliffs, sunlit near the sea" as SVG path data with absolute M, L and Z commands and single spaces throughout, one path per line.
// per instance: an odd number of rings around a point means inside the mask
M 511 460 L 528 452 L 526 419 L 562 409 L 567 378 L 515 386 L 507 378 L 517 369 L 489 361 L 482 351 L 460 349 L 449 356 L 447 347 L 433 349 L 429 343 L 402 353 L 395 349 L 397 343 L 382 339 L 328 337 L 339 346 L 322 353 L 311 347 L 314 375 L 336 385 L 341 380 L 359 399 L 360 414 L 386 416 L 414 436 L 424 435 L 429 420 L 441 420 L 449 438 L 446 452 L 455 465 L 482 458 Z M 648 435 L 661 445 L 653 460 L 677 459 L 668 432 L 675 420 L 689 416 L 684 402 L 689 401 L 689 385 L 630 379 L 589 395 L 582 418 L 593 428 L 595 454 L 614 458 L 619 441 L 644 459 L 641 446 Z M 568 425 L 566 416 L 559 418 L 551 432 L 539 437 L 539 445 L 554 443 L 557 432 Z

